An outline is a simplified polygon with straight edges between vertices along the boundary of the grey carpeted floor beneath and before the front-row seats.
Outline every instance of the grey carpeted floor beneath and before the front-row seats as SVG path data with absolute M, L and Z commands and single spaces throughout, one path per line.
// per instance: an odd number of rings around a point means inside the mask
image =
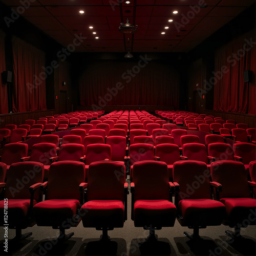
M 255 217 L 255 216 L 254 216 Z M 37 225 L 23 230 L 23 233 L 32 231 L 30 238 L 19 243 L 8 244 L 8 253 L 3 251 L 4 230 L 0 229 L 1 255 L 255 255 L 255 226 L 242 228 L 242 236 L 237 242 L 225 236 L 225 230 L 231 228 L 209 226 L 200 229 L 199 234 L 203 240 L 190 241 L 183 236 L 183 231 L 191 231 L 181 227 L 176 220 L 174 227 L 165 227 L 156 230 L 157 242 L 146 242 L 148 230 L 134 227 L 131 220 L 131 194 L 128 196 L 128 220 L 123 228 L 109 231 L 111 241 L 99 241 L 101 231 L 94 228 L 84 228 L 82 222 L 77 227 L 66 230 L 74 232 L 74 236 L 64 243 L 56 243 L 59 231 L 51 227 L 38 227 Z M 15 231 L 9 229 L 8 238 L 15 236 Z

